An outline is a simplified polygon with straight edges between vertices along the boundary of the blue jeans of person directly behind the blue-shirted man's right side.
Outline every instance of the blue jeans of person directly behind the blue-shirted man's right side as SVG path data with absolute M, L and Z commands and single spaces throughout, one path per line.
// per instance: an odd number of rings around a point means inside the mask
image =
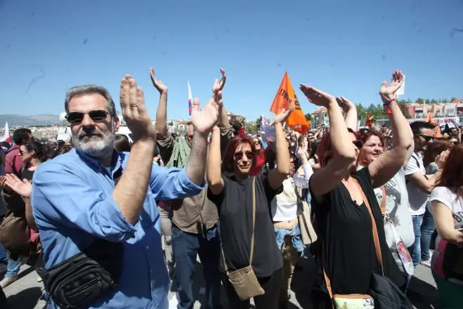
M 175 258 L 175 277 L 178 284 L 178 309 L 193 309 L 193 279 L 199 254 L 206 284 L 207 305 L 202 308 L 221 309 L 221 277 L 219 273 L 219 223 L 207 230 L 206 235 L 183 232 L 172 223 L 172 251 Z

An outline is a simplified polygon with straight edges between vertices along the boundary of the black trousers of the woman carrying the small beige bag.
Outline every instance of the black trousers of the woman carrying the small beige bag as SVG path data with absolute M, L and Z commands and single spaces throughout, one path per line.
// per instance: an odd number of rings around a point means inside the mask
M 241 301 L 237 296 L 233 285 L 228 282 L 228 277 L 226 274 L 222 275 L 222 284 L 223 289 L 225 289 L 225 294 L 228 299 L 228 307 L 233 309 L 248 309 L 249 300 Z M 276 270 L 270 277 L 257 278 L 259 284 L 265 292 L 261 296 L 254 297 L 254 305 L 256 309 L 278 309 L 278 299 L 280 296 L 280 290 L 284 280 L 283 268 Z

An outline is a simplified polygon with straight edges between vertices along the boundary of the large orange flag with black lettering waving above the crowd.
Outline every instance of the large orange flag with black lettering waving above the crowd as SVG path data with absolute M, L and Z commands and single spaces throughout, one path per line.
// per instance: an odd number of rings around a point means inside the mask
M 304 112 L 302 112 L 299 100 L 297 100 L 296 93 L 289 80 L 288 72 L 286 72 L 281 81 L 277 95 L 270 106 L 270 112 L 273 112 L 273 114 L 280 114 L 283 108 L 289 108 L 289 99 L 294 100 L 294 110 L 289 115 L 288 119 L 286 119 L 286 124 L 294 131 L 305 134 L 311 127 L 307 124 Z

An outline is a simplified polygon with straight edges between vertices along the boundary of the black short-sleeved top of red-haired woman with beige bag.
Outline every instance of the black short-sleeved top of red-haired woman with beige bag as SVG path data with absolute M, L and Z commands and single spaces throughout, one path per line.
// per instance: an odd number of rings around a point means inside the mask
M 228 173 L 222 175 L 225 187 L 220 195 L 209 190 L 209 199 L 216 204 L 221 222 L 223 252 L 229 271 L 249 265 L 252 236 L 252 176 L 238 180 Z M 282 268 L 283 260 L 275 241 L 270 202 L 280 193 L 268 184 L 268 173 L 256 176 L 256 225 L 252 268 L 257 277 L 270 277 Z M 223 258 L 219 269 L 223 268 Z

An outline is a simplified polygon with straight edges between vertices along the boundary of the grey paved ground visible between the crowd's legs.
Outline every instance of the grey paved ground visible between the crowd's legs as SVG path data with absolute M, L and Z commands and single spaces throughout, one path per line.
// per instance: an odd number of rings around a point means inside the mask
M 195 287 L 196 293 L 199 296 L 199 301 L 195 304 L 195 309 L 201 308 L 202 295 L 204 295 L 204 284 L 202 280 L 202 270 L 201 265 L 198 263 L 197 275 L 195 277 Z M 302 275 L 301 275 L 302 276 Z M 304 280 L 304 278 L 301 278 Z M 301 281 L 299 281 L 301 282 Z M 293 287 L 294 289 L 294 287 Z M 169 293 L 169 302 L 170 308 L 176 308 L 176 298 L 175 293 L 175 284 Z M 20 280 L 14 282 L 10 286 L 4 289 L 6 297 L 8 298 L 8 303 L 11 306 L 11 309 L 42 309 L 44 308 L 45 301 L 41 300 L 44 288 L 41 282 L 37 282 L 37 273 L 27 266 L 23 266 L 20 272 Z M 297 291 L 295 287 L 294 291 Z M 410 285 L 410 299 L 412 300 L 415 308 L 417 309 L 431 309 L 438 308 L 438 298 L 436 294 L 436 284 L 434 283 L 433 277 L 431 275 L 431 270 L 425 266 L 420 265 L 415 272 L 415 278 L 412 280 Z M 298 301 L 304 303 L 304 289 L 301 289 L 301 293 L 298 293 L 296 296 L 294 292 L 292 293 L 292 303 L 294 308 L 304 308 L 299 305 Z M 225 297 L 224 304 L 226 304 Z

